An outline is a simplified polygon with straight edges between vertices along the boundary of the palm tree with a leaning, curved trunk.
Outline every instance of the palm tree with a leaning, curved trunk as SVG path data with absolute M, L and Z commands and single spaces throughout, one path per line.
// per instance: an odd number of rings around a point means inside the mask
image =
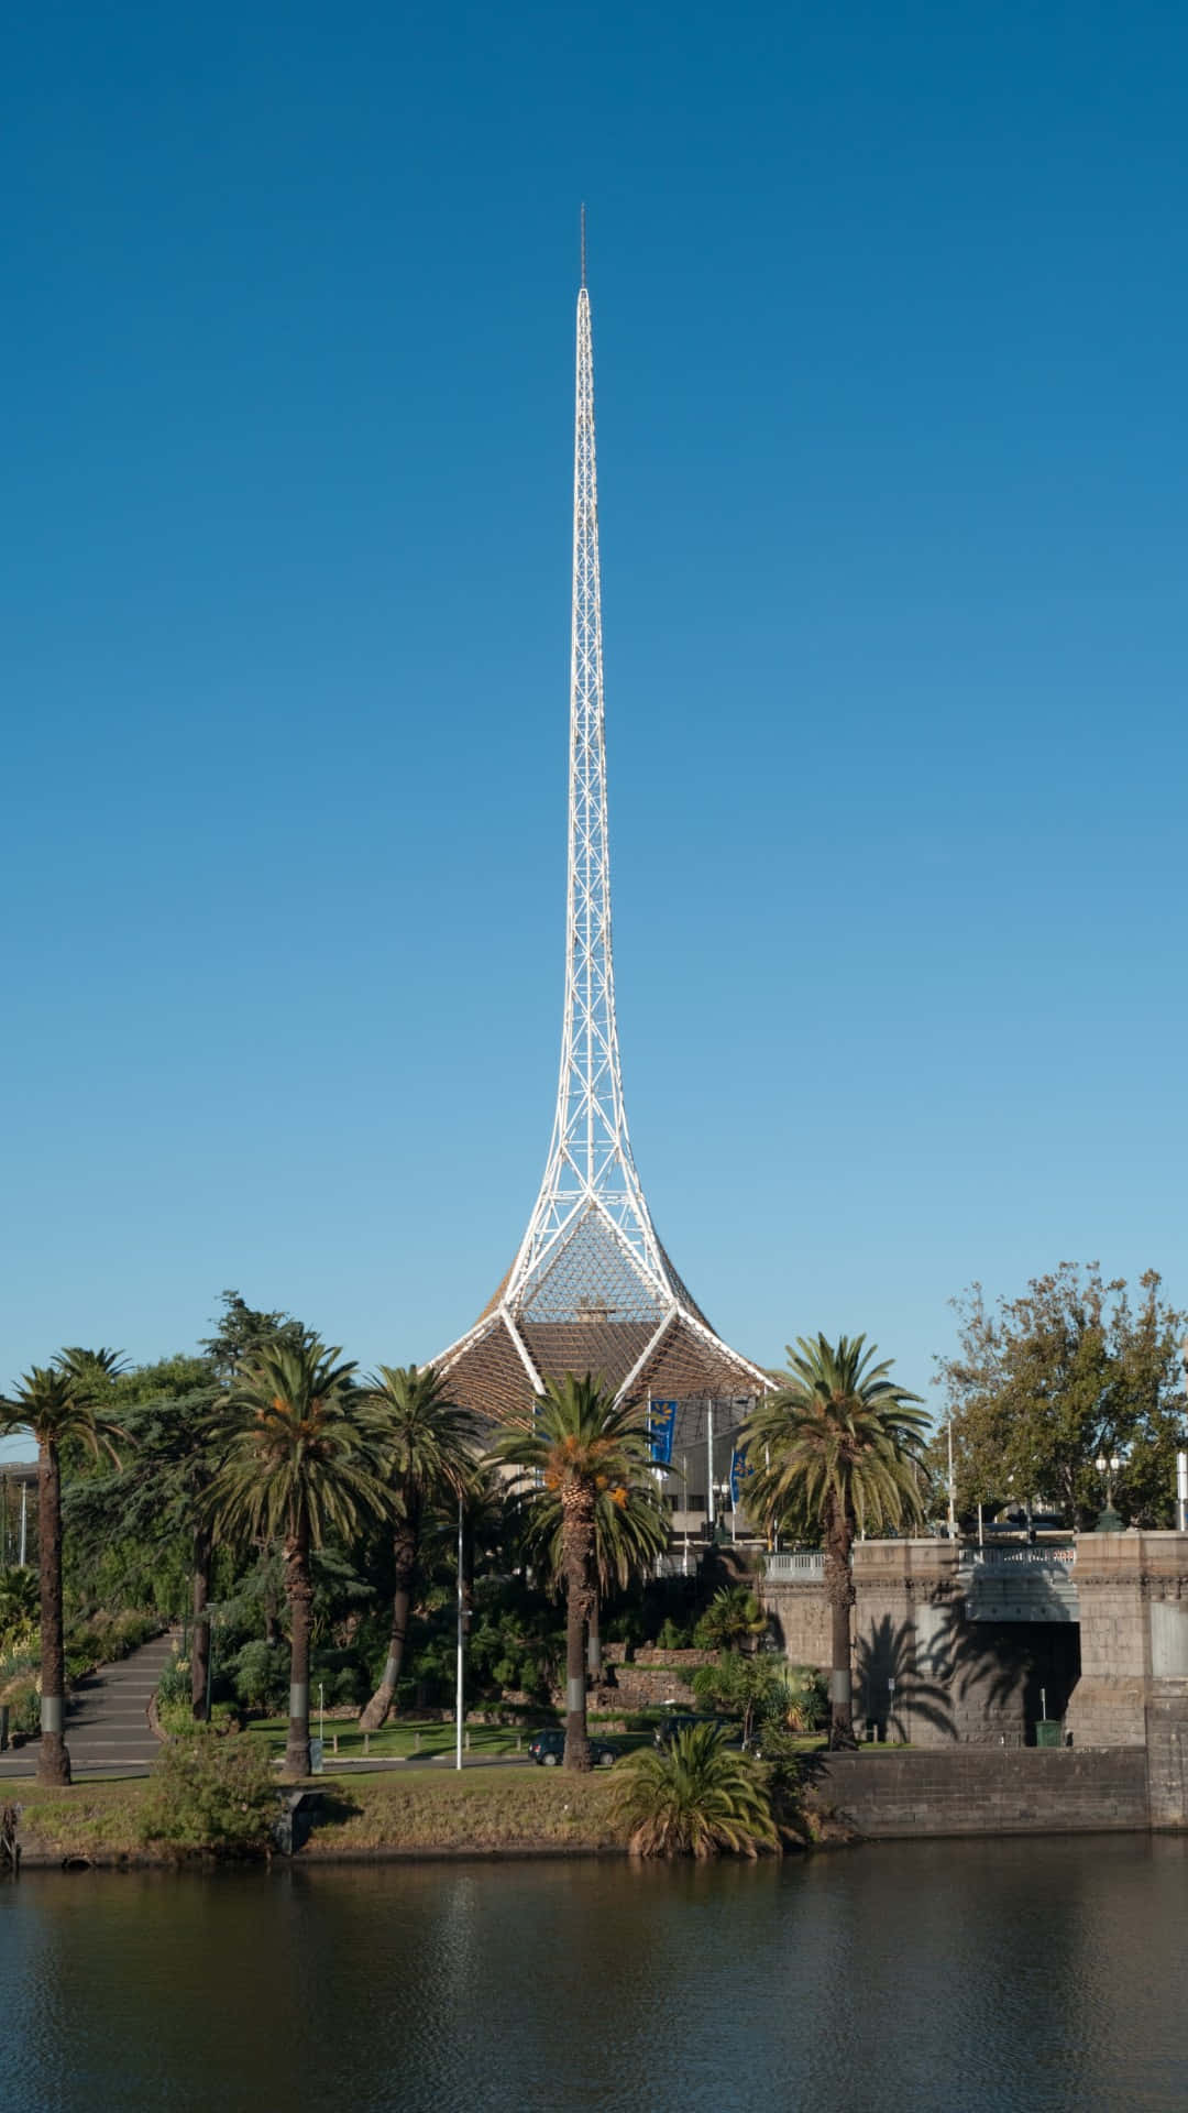
M 359 1718 L 364 1731 L 378 1731 L 393 1699 L 408 1616 L 416 1587 L 421 1536 L 427 1517 L 446 1500 L 457 1504 L 474 1481 L 478 1424 L 446 1395 L 431 1365 L 380 1365 L 366 1382 L 368 1399 L 378 1405 L 387 1424 L 385 1477 L 395 1509 L 391 1633 L 380 1684 Z

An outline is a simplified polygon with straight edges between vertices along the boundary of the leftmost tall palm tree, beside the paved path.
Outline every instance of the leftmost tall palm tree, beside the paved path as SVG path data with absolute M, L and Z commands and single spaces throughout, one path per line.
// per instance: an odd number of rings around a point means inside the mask
M 40 1654 L 42 1737 L 38 1783 L 70 1781 L 66 1745 L 66 1638 L 61 1619 L 61 1450 L 85 1445 L 95 1458 L 108 1454 L 118 1466 L 123 1431 L 95 1407 L 93 1373 L 34 1365 L 11 1397 L 0 1399 L 0 1431 L 27 1428 L 38 1443 L 38 1566 L 40 1566 Z

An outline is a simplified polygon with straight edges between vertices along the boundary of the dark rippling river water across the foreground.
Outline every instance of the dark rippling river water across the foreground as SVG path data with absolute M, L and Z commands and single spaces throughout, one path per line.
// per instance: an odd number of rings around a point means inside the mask
M 0 2107 L 1188 2105 L 1188 1840 L 27 1872 Z

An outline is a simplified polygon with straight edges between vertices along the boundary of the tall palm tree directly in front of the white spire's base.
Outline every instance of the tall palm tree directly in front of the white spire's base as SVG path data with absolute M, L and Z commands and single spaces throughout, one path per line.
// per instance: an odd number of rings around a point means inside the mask
M 539 1492 L 560 1507 L 564 1570 L 564 1766 L 590 1766 L 586 1733 L 586 1623 L 596 1600 L 598 1500 L 619 1511 L 649 1473 L 647 1422 L 638 1403 L 615 1395 L 586 1373 L 567 1371 L 537 1395 L 533 1422 L 505 1431 L 493 1458 L 516 1469 L 520 1494 Z

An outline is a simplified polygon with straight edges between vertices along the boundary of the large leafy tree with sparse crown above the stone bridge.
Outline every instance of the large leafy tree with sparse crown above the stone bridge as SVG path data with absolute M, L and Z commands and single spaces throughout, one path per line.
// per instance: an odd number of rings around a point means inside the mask
M 1099 1264 L 1061 1261 L 991 1308 L 981 1285 L 953 1299 L 958 1350 L 939 1359 L 953 1422 L 958 1507 L 1053 1504 L 1089 1523 L 1103 1500 L 1099 1454 L 1122 1458 L 1116 1500 L 1135 1523 L 1169 1526 L 1184 1443 L 1180 1338 L 1156 1270 L 1133 1304 Z M 947 1431 L 932 1445 L 947 1460 Z

